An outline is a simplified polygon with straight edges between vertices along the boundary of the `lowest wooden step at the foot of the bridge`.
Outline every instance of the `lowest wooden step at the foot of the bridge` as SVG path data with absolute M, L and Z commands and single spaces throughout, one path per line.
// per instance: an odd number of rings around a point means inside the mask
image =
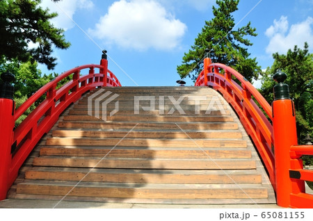
M 199 184 L 195 186 L 175 185 L 169 188 L 169 184 L 163 186 L 119 186 L 107 185 L 105 183 L 19 183 L 17 193 L 33 195 L 69 195 L 83 197 L 118 197 L 118 198 L 141 198 L 141 199 L 247 199 L 247 198 L 266 198 L 268 193 L 266 188 L 220 188 L 220 185 L 207 185 L 201 188 Z

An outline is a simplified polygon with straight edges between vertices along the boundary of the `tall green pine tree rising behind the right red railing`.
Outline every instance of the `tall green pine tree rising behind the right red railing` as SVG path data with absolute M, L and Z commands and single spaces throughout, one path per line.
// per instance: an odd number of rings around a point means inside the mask
M 184 78 L 186 74 L 194 81 L 203 69 L 201 62 L 204 50 L 210 49 L 210 58 L 214 63 L 223 63 L 236 69 L 249 81 L 257 79 L 260 67 L 256 58 L 249 58 L 247 46 L 252 42 L 245 38 L 257 36 L 256 29 L 250 22 L 235 30 L 235 22 L 232 13 L 238 10 L 239 0 L 217 0 L 218 8 L 213 6 L 214 18 L 205 22 L 202 32 L 195 38 L 195 44 L 182 58 L 182 65 L 177 66 L 179 76 Z M 191 76 L 191 70 L 194 69 Z

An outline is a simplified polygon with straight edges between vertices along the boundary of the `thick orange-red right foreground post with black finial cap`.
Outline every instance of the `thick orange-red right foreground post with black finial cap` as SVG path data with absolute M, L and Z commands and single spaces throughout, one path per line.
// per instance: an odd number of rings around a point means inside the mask
M 294 101 L 289 97 L 289 87 L 283 83 L 287 75 L 278 72 L 273 76 L 278 85 L 274 87 L 273 138 L 275 154 L 275 183 L 278 206 L 290 206 L 293 184 L 289 177 L 291 169 L 290 148 L 297 145 L 296 111 Z M 303 189 L 298 183 L 298 189 Z M 304 185 L 304 183 L 303 183 Z

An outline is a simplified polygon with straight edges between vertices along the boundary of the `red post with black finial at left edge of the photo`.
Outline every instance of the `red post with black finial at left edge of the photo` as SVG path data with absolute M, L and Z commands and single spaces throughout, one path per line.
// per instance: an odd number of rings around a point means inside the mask
M 1 75 L 0 85 L 0 200 L 6 199 L 8 192 L 8 172 L 12 160 L 11 148 L 14 128 L 15 103 L 13 101 L 13 85 L 15 76 L 10 73 Z

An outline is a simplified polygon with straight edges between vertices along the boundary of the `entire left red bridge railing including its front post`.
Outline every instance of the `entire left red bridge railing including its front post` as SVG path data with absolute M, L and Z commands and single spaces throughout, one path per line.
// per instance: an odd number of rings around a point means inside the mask
M 88 74 L 82 76 L 81 73 L 86 70 Z M 72 76 L 72 81 L 57 89 L 58 83 L 67 76 Z M 42 136 L 56 124 L 61 113 L 85 92 L 102 86 L 121 86 L 108 69 L 106 54 L 102 56 L 100 65 L 75 67 L 56 77 L 17 110 L 13 99 L 0 98 L 0 200 L 6 199 L 19 168 Z M 45 100 L 15 128 L 17 119 L 43 95 L 46 95 Z

